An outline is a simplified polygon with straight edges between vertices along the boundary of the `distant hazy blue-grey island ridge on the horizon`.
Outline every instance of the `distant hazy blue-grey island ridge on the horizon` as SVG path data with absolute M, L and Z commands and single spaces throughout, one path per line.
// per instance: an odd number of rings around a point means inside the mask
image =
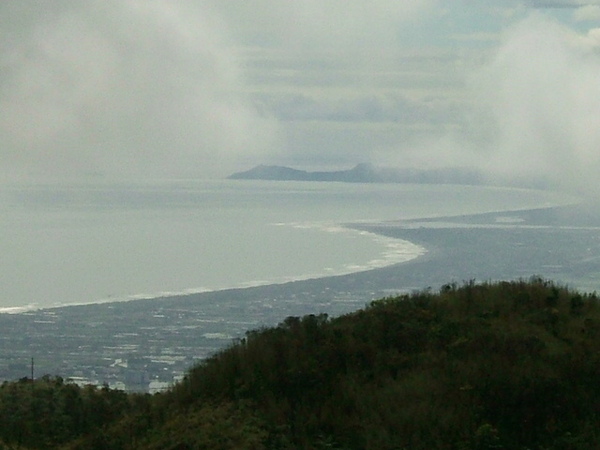
M 228 177 L 231 180 L 335 181 L 343 183 L 486 184 L 477 171 L 467 168 L 400 169 L 357 164 L 352 169 L 309 172 L 285 166 L 259 165 Z

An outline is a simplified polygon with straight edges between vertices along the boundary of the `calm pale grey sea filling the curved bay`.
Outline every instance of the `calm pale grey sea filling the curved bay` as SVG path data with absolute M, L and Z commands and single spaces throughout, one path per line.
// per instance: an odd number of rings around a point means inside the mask
M 350 273 L 426 249 L 343 225 L 565 204 L 465 186 L 258 181 L 0 191 L 0 311 Z

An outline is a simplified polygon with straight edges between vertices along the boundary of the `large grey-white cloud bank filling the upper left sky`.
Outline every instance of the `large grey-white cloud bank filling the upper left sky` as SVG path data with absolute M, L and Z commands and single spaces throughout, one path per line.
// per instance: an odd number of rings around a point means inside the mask
M 272 143 L 276 130 L 247 101 L 227 29 L 207 9 L 141 0 L 46 8 L 3 11 L 4 169 L 206 175 Z

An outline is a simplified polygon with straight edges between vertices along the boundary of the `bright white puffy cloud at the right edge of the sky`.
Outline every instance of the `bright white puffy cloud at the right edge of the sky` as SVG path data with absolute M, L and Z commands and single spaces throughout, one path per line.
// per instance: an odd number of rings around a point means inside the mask
M 491 170 L 587 189 L 600 170 L 597 50 L 589 37 L 543 16 L 507 31 L 475 77 L 482 109 L 474 128 L 487 142 Z

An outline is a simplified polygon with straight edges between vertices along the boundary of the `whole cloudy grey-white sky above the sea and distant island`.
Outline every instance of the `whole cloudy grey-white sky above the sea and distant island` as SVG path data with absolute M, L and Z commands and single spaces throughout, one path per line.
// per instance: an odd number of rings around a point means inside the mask
M 600 0 L 0 3 L 2 181 L 257 164 L 590 190 Z

